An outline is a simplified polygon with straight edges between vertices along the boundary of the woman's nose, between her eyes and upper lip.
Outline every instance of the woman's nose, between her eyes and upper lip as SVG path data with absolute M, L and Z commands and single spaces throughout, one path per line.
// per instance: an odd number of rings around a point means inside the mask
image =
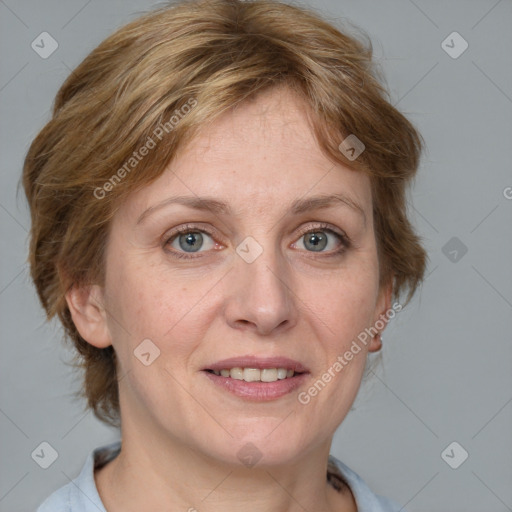
M 228 275 L 224 311 L 232 328 L 268 336 L 284 332 L 297 323 L 290 272 L 275 252 L 265 249 L 251 263 L 237 254 Z

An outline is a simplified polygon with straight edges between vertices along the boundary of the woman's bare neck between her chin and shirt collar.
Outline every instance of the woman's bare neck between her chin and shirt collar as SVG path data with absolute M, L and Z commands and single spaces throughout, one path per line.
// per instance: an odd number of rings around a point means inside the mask
M 149 433 L 148 433 L 149 434 Z M 148 441 L 149 440 L 149 441 Z M 350 490 L 327 483 L 330 442 L 293 463 L 232 465 L 199 453 L 178 439 L 124 425 L 121 453 L 95 474 L 109 512 L 174 510 L 230 512 L 355 512 Z M 148 492 L 148 490 L 151 490 Z

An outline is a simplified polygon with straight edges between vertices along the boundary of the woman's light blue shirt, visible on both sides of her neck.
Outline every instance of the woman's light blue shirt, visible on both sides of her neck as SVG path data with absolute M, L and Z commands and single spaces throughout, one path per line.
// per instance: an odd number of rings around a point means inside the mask
M 96 488 L 94 469 L 114 459 L 120 450 L 121 441 L 116 441 L 91 451 L 80 474 L 51 494 L 36 512 L 107 512 Z M 340 479 L 350 487 L 358 512 L 404 512 L 400 505 L 374 494 L 357 473 L 333 455 L 329 456 L 328 473 L 334 487 L 339 486 Z

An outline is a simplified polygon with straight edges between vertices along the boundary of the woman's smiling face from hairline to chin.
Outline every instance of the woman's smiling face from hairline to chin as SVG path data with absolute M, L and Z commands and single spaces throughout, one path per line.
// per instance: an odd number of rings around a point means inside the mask
M 102 301 L 133 432 L 277 464 L 325 447 L 349 411 L 377 342 L 333 367 L 389 295 L 369 179 L 321 153 L 304 112 L 288 90 L 267 91 L 116 213 Z M 273 370 L 294 365 L 287 379 Z

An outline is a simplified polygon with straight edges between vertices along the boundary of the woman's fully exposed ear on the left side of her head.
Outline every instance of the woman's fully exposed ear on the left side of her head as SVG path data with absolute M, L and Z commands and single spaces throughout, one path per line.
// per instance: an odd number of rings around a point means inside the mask
M 66 302 L 73 323 L 85 341 L 98 348 L 112 344 L 101 286 L 74 285 L 66 293 Z

